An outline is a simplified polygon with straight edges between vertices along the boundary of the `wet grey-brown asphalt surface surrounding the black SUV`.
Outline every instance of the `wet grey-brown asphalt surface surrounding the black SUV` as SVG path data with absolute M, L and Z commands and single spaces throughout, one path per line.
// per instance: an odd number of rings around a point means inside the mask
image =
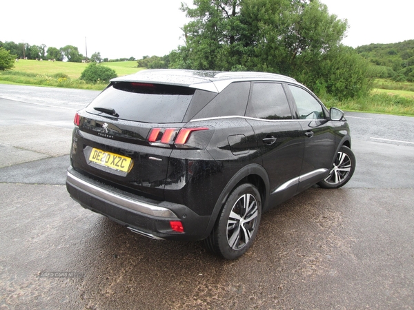
M 226 261 L 69 197 L 72 119 L 97 94 L 0 85 L 0 309 L 414 308 L 414 118 L 347 112 L 353 179 L 267 212 Z

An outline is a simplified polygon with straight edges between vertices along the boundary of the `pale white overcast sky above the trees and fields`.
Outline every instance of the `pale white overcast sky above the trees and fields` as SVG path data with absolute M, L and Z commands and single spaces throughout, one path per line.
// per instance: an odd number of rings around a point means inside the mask
M 164 56 L 182 45 L 180 28 L 188 22 L 179 10 L 192 0 L 3 1 L 0 41 L 75 45 L 88 56 L 117 59 Z M 370 43 L 414 39 L 414 0 L 320 0 L 331 14 L 348 19 L 343 43 L 356 48 Z M 86 53 L 87 47 L 87 53 Z

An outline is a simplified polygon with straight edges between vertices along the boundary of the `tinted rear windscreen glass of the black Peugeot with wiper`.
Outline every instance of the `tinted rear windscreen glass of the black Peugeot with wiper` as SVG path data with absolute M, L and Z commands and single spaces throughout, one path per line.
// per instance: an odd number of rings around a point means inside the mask
M 181 123 L 195 89 L 149 83 L 112 83 L 88 105 L 93 114 L 108 115 L 95 107 L 113 109 L 118 118 L 144 123 Z

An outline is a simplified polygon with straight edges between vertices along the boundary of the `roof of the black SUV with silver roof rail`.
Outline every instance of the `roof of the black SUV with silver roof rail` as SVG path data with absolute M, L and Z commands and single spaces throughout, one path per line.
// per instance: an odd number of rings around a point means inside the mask
M 221 92 L 230 83 L 239 81 L 297 81 L 282 74 L 266 72 L 220 72 L 178 69 L 142 70 L 135 74 L 120 76 L 111 82 L 141 82 L 193 87 L 209 92 Z

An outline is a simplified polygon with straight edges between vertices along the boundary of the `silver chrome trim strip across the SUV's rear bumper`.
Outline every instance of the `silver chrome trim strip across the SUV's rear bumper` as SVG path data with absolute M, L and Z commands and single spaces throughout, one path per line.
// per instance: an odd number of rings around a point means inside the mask
M 80 178 L 77 178 L 70 172 L 68 172 L 68 177 L 66 182 L 78 187 L 79 189 L 88 192 L 92 195 L 95 195 L 103 200 L 106 200 L 110 203 L 115 203 L 126 207 L 128 209 L 141 212 L 143 214 L 148 214 L 150 216 L 155 216 L 157 218 L 177 218 L 174 212 L 170 209 L 164 207 L 157 207 L 156 205 L 151 205 L 149 203 L 144 203 L 142 201 L 132 200 L 125 196 L 109 192 L 106 189 L 92 185 Z

